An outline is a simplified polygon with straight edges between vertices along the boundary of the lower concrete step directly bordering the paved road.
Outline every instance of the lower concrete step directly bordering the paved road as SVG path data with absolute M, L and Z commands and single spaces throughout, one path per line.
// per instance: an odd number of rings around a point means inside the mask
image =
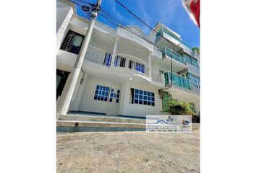
M 57 132 L 144 131 L 145 123 L 57 120 Z

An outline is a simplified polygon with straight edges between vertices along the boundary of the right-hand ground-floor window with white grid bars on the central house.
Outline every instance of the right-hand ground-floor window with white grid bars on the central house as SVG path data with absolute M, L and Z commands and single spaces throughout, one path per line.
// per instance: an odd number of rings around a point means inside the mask
M 140 89 L 131 89 L 132 104 L 155 106 L 155 94 Z

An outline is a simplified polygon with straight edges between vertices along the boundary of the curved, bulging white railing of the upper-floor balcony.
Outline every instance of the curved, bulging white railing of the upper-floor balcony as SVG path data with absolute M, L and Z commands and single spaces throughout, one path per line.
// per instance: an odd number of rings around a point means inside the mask
M 129 68 L 148 76 L 148 64 L 135 56 L 118 54 L 115 58 L 114 66 Z

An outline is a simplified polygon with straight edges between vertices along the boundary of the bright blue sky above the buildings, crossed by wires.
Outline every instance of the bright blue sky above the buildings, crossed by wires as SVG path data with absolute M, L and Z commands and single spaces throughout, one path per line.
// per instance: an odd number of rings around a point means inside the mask
M 87 1 L 87 0 L 84 0 Z M 96 0 L 88 0 L 95 3 Z M 146 22 L 150 27 L 155 27 L 157 22 L 161 22 L 166 27 L 178 33 L 182 40 L 192 47 L 200 47 L 200 29 L 190 19 L 189 14 L 182 5 L 182 0 L 119 0 L 129 10 L 137 14 L 140 19 Z M 148 34 L 150 30 L 139 22 L 132 14 L 127 12 L 115 0 L 102 0 L 101 8 L 116 17 L 124 26 L 139 25 L 140 28 Z M 85 17 L 80 6 L 77 6 L 77 14 Z M 98 15 L 98 21 L 114 27 L 109 24 L 102 16 Z M 114 27 L 115 28 L 115 27 Z

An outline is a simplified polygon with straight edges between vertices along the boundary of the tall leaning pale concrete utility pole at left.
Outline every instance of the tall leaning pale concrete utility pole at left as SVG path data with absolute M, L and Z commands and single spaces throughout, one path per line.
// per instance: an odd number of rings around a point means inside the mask
M 70 83 L 68 84 L 67 93 L 64 94 L 64 97 L 61 99 L 60 112 L 59 112 L 61 115 L 66 115 L 67 111 L 69 110 L 69 104 L 71 102 L 72 95 L 74 93 L 74 87 L 77 84 L 77 79 L 82 68 L 82 63 L 85 59 L 85 53 L 88 49 L 90 37 L 92 36 L 92 33 L 93 33 L 93 27 L 95 25 L 98 12 L 100 11 L 101 1 L 102 0 L 97 0 L 97 4 L 95 4 L 93 8 L 93 13 L 91 16 L 92 20 L 90 21 L 90 25 L 85 34 L 85 39 L 82 41 L 81 50 L 77 56 L 77 61 L 74 63 L 74 68 L 72 70 L 72 73 L 70 74 L 71 80 L 70 80 Z

